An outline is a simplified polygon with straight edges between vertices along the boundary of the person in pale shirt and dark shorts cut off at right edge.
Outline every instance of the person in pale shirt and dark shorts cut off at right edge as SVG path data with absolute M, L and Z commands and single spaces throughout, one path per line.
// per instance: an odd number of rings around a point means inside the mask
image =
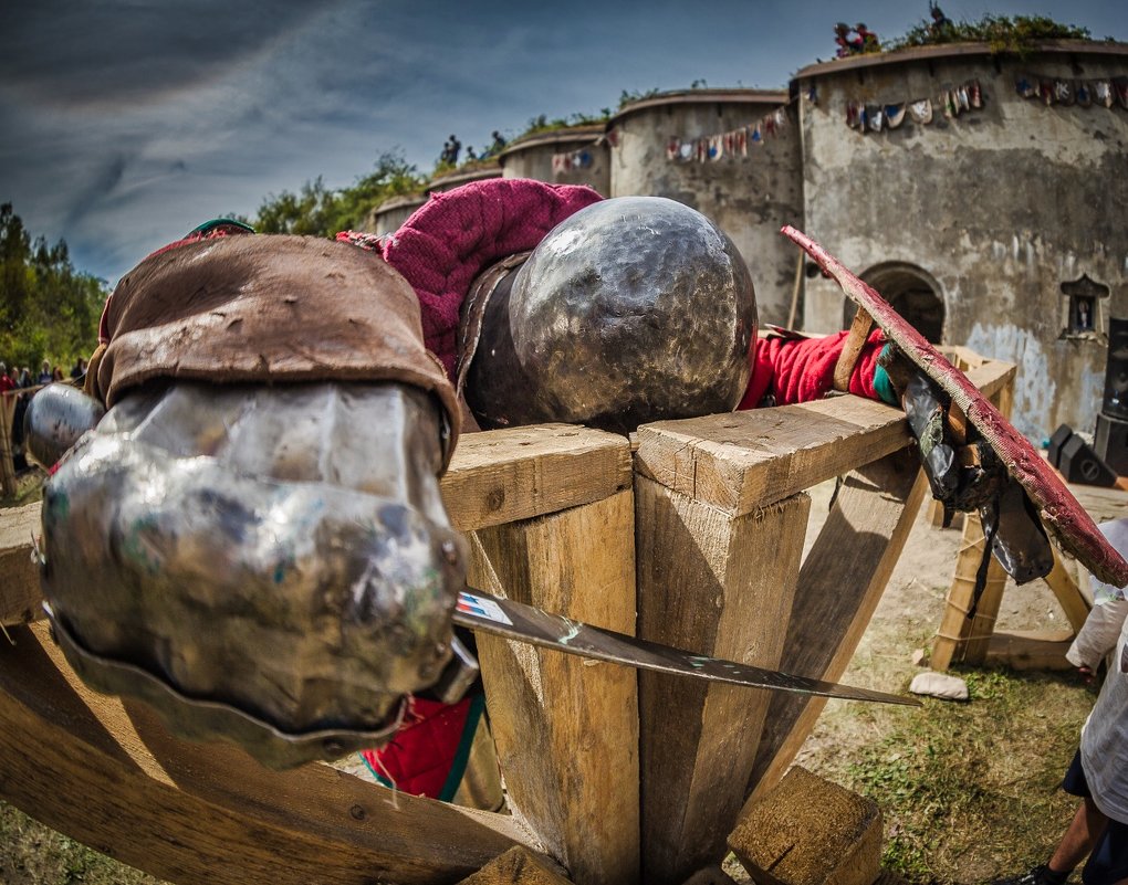
M 1128 519 L 1099 528 L 1113 547 L 1128 551 Z M 1093 609 L 1066 658 L 1087 682 L 1104 656 L 1114 654 L 1061 784 L 1081 804 L 1046 864 L 994 885 L 1065 885 L 1086 856 L 1085 885 L 1128 882 L 1128 599 L 1096 578 L 1092 586 Z

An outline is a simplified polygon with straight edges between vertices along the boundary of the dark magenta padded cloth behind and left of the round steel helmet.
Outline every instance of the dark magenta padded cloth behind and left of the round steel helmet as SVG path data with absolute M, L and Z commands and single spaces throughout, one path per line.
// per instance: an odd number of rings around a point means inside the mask
M 569 215 L 600 200 L 590 187 L 491 178 L 433 194 L 384 239 L 385 260 L 418 295 L 424 344 L 451 380 L 458 311 L 478 274 L 531 249 Z

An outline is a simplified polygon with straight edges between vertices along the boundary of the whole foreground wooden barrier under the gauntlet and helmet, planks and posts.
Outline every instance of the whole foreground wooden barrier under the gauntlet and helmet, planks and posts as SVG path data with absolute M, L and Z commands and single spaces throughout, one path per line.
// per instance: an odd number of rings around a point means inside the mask
M 902 414 L 844 396 L 636 439 L 632 458 L 626 437 L 565 425 L 464 436 L 442 490 L 472 532 L 472 583 L 700 654 L 840 676 L 923 495 Z M 803 559 L 804 489 L 836 476 Z M 36 516 L 20 511 L 0 543 L 29 558 Z M 25 620 L 26 607 L 0 616 Z M 822 708 L 479 637 L 512 815 L 472 813 L 179 742 L 142 705 L 79 684 L 42 623 L 12 634 L 0 795 L 176 883 L 449 883 L 515 844 L 581 885 L 680 883 L 723 856 L 748 796 L 782 777 Z

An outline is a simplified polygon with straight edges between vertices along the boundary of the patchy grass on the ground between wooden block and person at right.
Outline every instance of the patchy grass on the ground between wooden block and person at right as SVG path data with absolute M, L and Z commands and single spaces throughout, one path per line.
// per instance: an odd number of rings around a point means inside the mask
M 873 798 L 883 862 L 910 883 L 989 880 L 1045 861 L 1076 800 L 1059 785 L 1093 692 L 1068 676 L 961 673 L 967 703 L 867 708 L 882 736 L 839 776 Z

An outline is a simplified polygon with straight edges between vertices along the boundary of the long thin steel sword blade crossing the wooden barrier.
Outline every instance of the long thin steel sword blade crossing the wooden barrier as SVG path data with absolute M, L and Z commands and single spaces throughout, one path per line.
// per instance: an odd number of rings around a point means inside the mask
M 823 682 L 807 676 L 795 676 L 776 670 L 764 670 L 749 664 L 738 664 L 719 657 L 697 655 L 672 646 L 652 643 L 626 634 L 605 630 L 583 621 L 552 614 L 532 605 L 493 596 L 479 590 L 458 594 L 455 623 L 472 630 L 503 636 L 519 643 L 555 648 L 565 654 L 608 661 L 615 664 L 653 670 L 659 673 L 693 676 L 733 685 L 790 691 L 796 694 L 818 694 L 826 698 L 866 700 L 881 703 L 919 706 L 915 698 L 887 694 L 883 691 L 857 689 Z

